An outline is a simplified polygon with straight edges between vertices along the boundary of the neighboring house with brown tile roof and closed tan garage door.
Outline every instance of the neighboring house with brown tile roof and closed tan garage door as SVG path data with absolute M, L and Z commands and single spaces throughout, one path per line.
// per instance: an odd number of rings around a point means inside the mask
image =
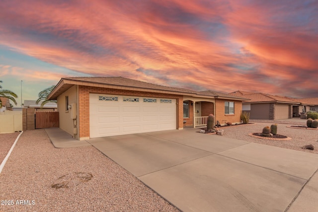
M 250 119 L 291 119 L 299 115 L 299 106 L 301 106 L 299 100 L 239 90 L 230 94 L 250 99 L 242 103 L 242 111 L 249 112 Z

